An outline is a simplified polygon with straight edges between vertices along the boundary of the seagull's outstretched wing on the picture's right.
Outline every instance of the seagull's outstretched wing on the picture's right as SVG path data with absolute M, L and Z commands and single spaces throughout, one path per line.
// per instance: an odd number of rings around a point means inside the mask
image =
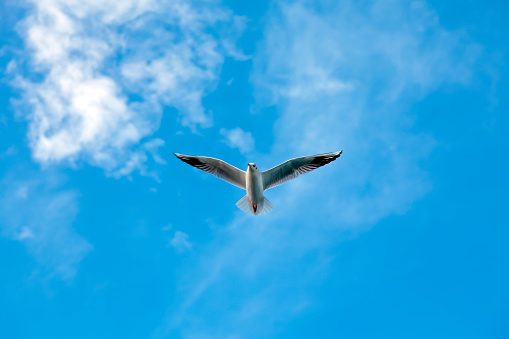
M 297 178 L 299 175 L 311 172 L 318 167 L 327 165 L 341 156 L 343 151 L 310 155 L 285 161 L 262 173 L 263 189 L 276 187 L 287 181 Z

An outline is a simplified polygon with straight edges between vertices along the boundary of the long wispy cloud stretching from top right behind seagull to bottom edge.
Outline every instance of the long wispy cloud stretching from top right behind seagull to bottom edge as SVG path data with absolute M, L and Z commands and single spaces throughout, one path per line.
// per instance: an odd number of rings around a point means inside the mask
M 270 214 L 239 214 L 218 232 L 186 263 L 194 269 L 181 282 L 182 306 L 158 334 L 270 336 L 314 303 L 338 243 L 405 213 L 430 190 L 419 163 L 433 137 L 412 132 L 408 111 L 442 86 L 468 84 L 479 46 L 443 28 L 423 1 L 325 3 L 284 2 L 268 16 L 252 81 L 259 104 L 280 116 L 272 152 L 257 162 L 339 149 L 343 156 L 268 191 Z M 229 310 L 221 326 L 212 316 L 218 308 Z

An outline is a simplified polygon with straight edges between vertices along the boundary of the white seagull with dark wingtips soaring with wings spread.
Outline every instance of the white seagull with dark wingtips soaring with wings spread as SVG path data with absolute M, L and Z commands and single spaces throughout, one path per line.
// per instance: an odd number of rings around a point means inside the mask
M 343 151 L 309 155 L 290 159 L 271 169 L 260 172 L 256 164 L 247 164 L 243 171 L 223 160 L 173 153 L 177 158 L 191 166 L 212 174 L 219 179 L 246 190 L 246 195 L 237 202 L 237 207 L 252 215 L 261 215 L 274 209 L 274 206 L 263 196 L 266 190 L 297 178 L 300 174 L 311 172 L 327 165 L 341 156 Z

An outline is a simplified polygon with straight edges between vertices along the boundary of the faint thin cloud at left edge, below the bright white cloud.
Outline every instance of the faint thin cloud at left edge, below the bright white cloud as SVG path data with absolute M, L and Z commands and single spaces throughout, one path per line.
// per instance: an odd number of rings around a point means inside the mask
M 58 179 L 19 180 L 9 175 L 0 183 L 1 234 L 23 242 L 37 261 L 41 279 L 70 281 L 92 246 L 72 228 L 77 194 L 59 191 Z

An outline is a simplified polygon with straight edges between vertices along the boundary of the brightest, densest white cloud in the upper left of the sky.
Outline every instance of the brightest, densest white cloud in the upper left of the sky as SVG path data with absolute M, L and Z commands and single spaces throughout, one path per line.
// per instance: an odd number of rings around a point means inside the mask
M 180 0 L 32 5 L 20 25 L 28 58 L 10 69 L 19 73 L 18 109 L 30 121 L 37 161 L 86 161 L 117 176 L 143 172 L 152 141 L 140 142 L 159 127 L 162 105 L 177 108 L 193 130 L 212 124 L 202 98 L 225 55 L 234 54 L 241 18 Z

